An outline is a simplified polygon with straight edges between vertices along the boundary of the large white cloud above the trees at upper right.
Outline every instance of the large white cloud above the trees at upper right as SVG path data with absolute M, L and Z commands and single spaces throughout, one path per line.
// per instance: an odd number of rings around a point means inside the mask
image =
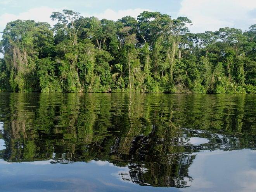
M 256 9 L 255 0 L 182 0 L 178 16 L 192 20 L 192 32 L 216 31 L 222 27 L 243 30 L 256 23 L 251 15 Z

